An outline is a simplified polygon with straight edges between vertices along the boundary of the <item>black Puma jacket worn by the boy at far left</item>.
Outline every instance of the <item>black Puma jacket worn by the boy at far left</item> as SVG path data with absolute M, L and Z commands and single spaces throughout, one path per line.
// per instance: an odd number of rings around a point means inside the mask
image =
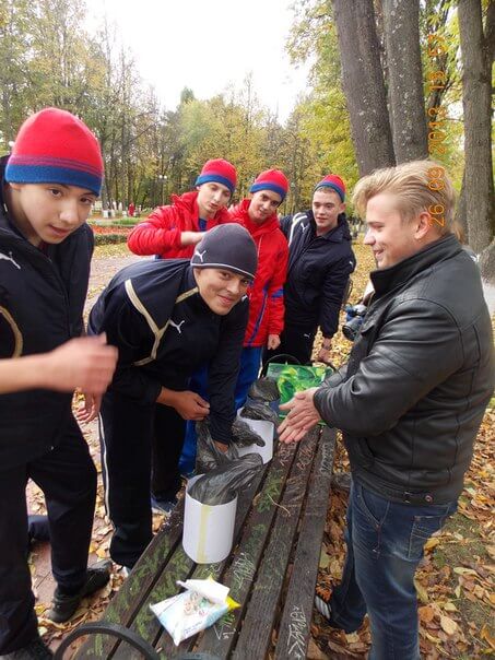
M 93 232 L 84 224 L 40 250 L 0 202 L 0 357 L 51 351 L 82 333 Z M 28 462 L 57 445 L 71 401 L 70 393 L 42 389 L 0 394 L 0 467 Z

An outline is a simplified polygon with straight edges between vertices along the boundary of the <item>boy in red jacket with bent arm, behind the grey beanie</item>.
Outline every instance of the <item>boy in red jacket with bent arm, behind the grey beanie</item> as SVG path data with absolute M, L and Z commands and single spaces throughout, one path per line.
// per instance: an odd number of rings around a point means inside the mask
M 158 207 L 135 225 L 127 240 L 129 249 L 162 259 L 190 259 L 203 232 L 231 222 L 225 205 L 236 182 L 234 165 L 223 158 L 208 161 L 196 179 L 197 190 L 173 195 L 172 204 Z

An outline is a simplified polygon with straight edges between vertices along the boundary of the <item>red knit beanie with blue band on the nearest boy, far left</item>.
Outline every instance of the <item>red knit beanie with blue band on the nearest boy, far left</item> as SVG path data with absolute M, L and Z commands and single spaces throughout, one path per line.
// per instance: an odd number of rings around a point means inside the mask
M 5 181 L 64 184 L 99 195 L 103 160 L 87 126 L 58 108 L 45 108 L 21 126 L 5 167 Z

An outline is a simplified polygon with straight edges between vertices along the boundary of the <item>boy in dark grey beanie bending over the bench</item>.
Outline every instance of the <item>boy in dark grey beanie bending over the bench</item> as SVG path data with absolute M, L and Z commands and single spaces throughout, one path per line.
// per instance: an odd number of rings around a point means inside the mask
M 122 269 L 91 311 L 90 331 L 106 332 L 119 351 L 103 398 L 101 439 L 105 502 L 115 529 L 109 552 L 127 568 L 153 537 L 152 452 L 154 468 L 162 470 L 156 495 L 173 500 L 181 485 L 185 420 L 208 416 L 217 448 L 228 449 L 246 292 L 257 261 L 246 229 L 220 225 L 203 235 L 190 260 L 145 260 Z M 189 387 L 204 364 L 209 401 Z

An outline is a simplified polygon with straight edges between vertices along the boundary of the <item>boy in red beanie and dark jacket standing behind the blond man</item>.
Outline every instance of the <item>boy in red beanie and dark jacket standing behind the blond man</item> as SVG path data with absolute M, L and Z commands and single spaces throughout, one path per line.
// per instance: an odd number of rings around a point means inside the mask
M 345 184 L 330 174 L 316 185 L 310 210 L 282 219 L 288 240 L 285 327 L 278 350 L 268 351 L 266 358 L 288 353 L 307 364 L 319 326 L 323 343 L 318 360 L 329 362 L 342 298 L 356 266 L 344 211 Z

